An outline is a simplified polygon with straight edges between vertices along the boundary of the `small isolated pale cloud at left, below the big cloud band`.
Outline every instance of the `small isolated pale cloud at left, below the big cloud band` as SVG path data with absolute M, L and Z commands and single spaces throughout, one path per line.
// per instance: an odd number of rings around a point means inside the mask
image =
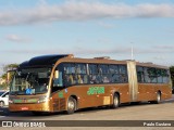
M 13 41 L 13 42 L 29 42 L 30 39 L 26 37 L 20 37 L 17 35 L 8 35 L 5 37 L 7 40 Z

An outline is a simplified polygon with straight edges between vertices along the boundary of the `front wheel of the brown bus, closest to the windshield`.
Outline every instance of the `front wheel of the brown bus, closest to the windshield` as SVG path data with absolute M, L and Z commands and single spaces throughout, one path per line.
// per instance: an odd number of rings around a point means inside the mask
M 67 101 L 67 114 L 73 114 L 76 110 L 76 100 L 72 96 L 69 98 Z

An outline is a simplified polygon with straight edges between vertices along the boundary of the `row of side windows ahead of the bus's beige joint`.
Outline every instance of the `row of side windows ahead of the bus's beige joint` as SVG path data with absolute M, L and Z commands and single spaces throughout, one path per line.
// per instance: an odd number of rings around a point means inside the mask
M 63 84 L 128 82 L 126 65 L 64 63 Z

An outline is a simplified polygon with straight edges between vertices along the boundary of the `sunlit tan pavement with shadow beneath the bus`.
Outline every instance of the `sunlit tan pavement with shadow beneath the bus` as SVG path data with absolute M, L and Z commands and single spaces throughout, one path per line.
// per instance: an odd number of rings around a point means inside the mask
M 119 129 L 164 129 L 164 130 L 172 130 L 174 127 L 136 127 L 134 126 L 134 121 L 122 121 L 122 122 L 112 122 L 109 120 L 154 120 L 156 123 L 157 120 L 164 120 L 166 123 L 171 121 L 166 120 L 174 120 L 174 95 L 173 99 L 163 101 L 160 104 L 150 104 L 148 102 L 140 103 L 138 105 L 129 105 L 129 104 L 122 104 L 116 109 L 111 109 L 109 107 L 98 107 L 98 108 L 86 108 L 80 109 L 76 112 L 73 115 L 66 115 L 64 113 L 55 113 L 55 114 L 49 114 L 49 115 L 42 115 L 42 116 L 34 116 L 29 112 L 24 113 L 9 113 L 8 107 L 0 108 L 0 120 L 57 120 L 57 122 L 50 121 L 49 123 L 54 123 L 55 126 L 59 126 L 60 123 L 63 123 L 63 127 L 46 127 L 46 128 L 28 128 L 28 129 L 82 129 L 82 126 L 86 126 L 84 129 L 115 129 L 115 127 L 102 127 L 107 125 L 115 125 L 121 123 L 121 127 Z M 64 120 L 60 121 L 58 123 L 58 120 Z M 69 121 L 67 121 L 69 120 Z M 77 120 L 77 121 L 70 121 L 70 120 Z M 79 121 L 79 120 L 88 120 L 88 121 Z M 89 126 L 88 123 L 92 120 L 92 123 L 96 125 L 95 127 Z M 107 121 L 108 120 L 108 121 Z M 96 122 L 95 122 L 96 121 Z M 152 123 L 153 123 L 152 122 Z M 71 127 L 75 125 L 76 127 Z M 79 123 L 79 126 L 77 125 Z M 129 123 L 129 125 L 127 125 Z M 138 123 L 138 121 L 137 121 Z M 142 122 L 140 122 L 142 123 Z M 172 121 L 174 126 L 174 121 Z M 67 125 L 67 126 L 66 126 Z M 130 126 L 130 127 L 128 127 Z M 133 126 L 133 127 L 132 127 Z M 116 127 L 117 128 L 117 127 Z M 2 129 L 2 128 L 0 128 Z M 5 128 L 10 129 L 10 128 Z M 18 128 L 15 128 L 18 130 Z M 13 130 L 15 130 L 13 128 Z M 22 129 L 22 128 L 20 128 Z M 4 130 L 4 128 L 3 128 Z

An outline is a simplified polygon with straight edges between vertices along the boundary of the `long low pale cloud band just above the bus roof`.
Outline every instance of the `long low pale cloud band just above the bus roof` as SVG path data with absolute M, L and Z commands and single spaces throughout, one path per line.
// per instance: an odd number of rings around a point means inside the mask
M 58 53 L 58 49 L 42 49 L 42 50 L 7 50 L 4 52 L 8 53 L 16 53 L 16 54 L 23 54 L 23 53 L 28 53 L 28 54 L 52 54 L 52 53 Z M 130 48 L 125 48 L 125 47 L 115 47 L 112 49 L 87 49 L 87 48 L 82 48 L 82 47 L 74 47 L 71 49 L 60 49 L 59 48 L 59 53 L 60 54 L 65 54 L 65 53 L 73 53 L 73 54 L 130 54 L 132 49 Z M 174 52 L 173 50 L 162 50 L 158 48 L 149 48 L 149 49 L 140 49 L 140 48 L 134 48 L 134 53 L 135 54 L 162 54 L 162 53 L 172 53 Z

